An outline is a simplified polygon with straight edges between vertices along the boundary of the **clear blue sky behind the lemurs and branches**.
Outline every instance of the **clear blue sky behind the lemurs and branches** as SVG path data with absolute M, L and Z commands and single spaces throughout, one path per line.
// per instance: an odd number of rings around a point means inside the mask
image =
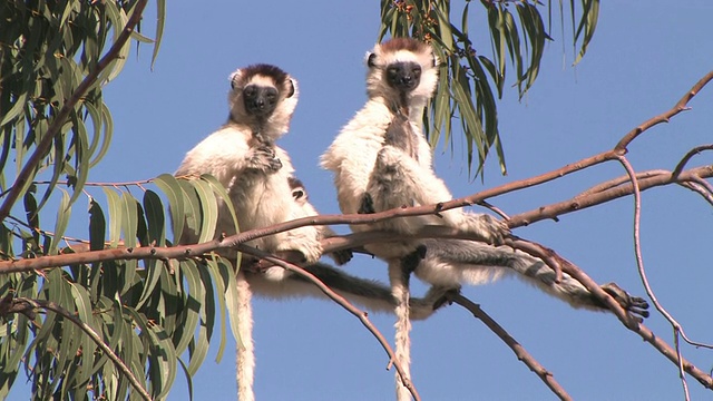
M 319 168 L 318 158 L 365 99 L 362 59 L 377 39 L 379 2 L 167 6 L 164 42 L 154 71 L 149 70 L 152 49 L 143 47 L 138 60 L 133 52 L 124 72 L 106 89 L 115 137 L 89 179 L 126 182 L 173 173 L 188 149 L 225 121 L 227 76 L 237 67 L 268 62 L 287 70 L 301 86 L 291 133 L 280 145 L 291 153 L 316 207 L 338 213 L 332 177 Z M 471 12 L 482 12 L 481 7 L 473 4 Z M 500 176 L 492 159 L 485 187 L 611 148 L 632 127 L 673 106 L 713 69 L 711 12 L 713 4 L 706 0 L 605 2 L 588 53 L 576 68 L 570 67 L 570 33 L 563 38 L 555 23 L 555 41 L 546 50 L 535 87 L 522 101 L 516 89 L 507 89 L 499 102 L 509 175 Z M 152 25 L 150 17 L 146 22 Z M 145 33 L 150 36 L 150 29 Z M 473 37 L 485 33 L 485 27 L 471 27 Z M 487 41 L 475 39 L 479 52 L 489 52 Z M 671 169 L 687 149 L 712 141 L 713 87 L 691 106 L 692 111 L 649 130 L 629 147 L 635 168 Z M 456 196 L 463 196 L 482 189 L 484 184 L 469 179 L 459 145 L 457 141 L 451 154 L 440 144 L 436 159 L 439 175 Z M 699 156 L 692 165 L 711 159 L 711 154 Z M 623 174 L 616 164 L 599 166 L 490 200 L 516 214 Z M 712 343 L 713 209 L 693 193 L 674 186 L 648 190 L 643 200 L 644 263 L 652 286 L 690 336 Z M 633 251 L 633 198 L 624 198 L 515 233 L 555 248 L 600 283 L 614 281 L 643 296 Z M 69 234 L 86 236 L 86 229 Z M 365 256 L 345 268 L 385 281 L 384 266 Z M 676 366 L 613 315 L 574 311 L 515 280 L 466 287 L 463 293 L 480 303 L 577 400 L 683 398 Z M 258 300 L 254 316 L 260 400 L 393 399 L 393 373 L 384 370 L 385 354 L 336 304 Z M 393 319 L 371 317 L 391 339 Z M 654 312 L 645 324 L 672 343 L 672 329 L 660 314 Z M 413 381 L 424 400 L 554 399 L 500 340 L 458 306 L 414 323 L 412 342 Z M 228 348 L 234 350 L 233 340 Z M 711 351 L 684 346 L 684 355 L 702 370 L 713 368 Z M 234 399 L 234 351 L 227 351 L 221 363 L 211 358 L 194 380 L 196 399 Z M 187 399 L 182 372 L 176 382 L 169 399 Z M 693 399 L 713 399 L 694 379 L 688 379 L 688 385 Z

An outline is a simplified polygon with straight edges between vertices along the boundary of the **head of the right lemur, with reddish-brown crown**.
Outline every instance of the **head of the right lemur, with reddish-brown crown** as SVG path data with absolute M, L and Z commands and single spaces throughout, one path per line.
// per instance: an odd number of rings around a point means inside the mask
M 367 55 L 367 92 L 400 106 L 426 104 L 438 84 L 438 58 L 428 43 L 395 38 Z

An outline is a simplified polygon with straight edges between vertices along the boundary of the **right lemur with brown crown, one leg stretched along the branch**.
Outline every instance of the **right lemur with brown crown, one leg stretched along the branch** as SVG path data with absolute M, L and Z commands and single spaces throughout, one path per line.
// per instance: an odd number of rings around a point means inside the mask
M 342 213 L 374 213 L 402 206 L 434 205 L 451 200 L 445 183 L 432 169 L 431 148 L 422 134 L 423 108 L 438 81 L 438 59 L 429 45 L 398 38 L 377 45 L 367 56 L 368 101 L 342 128 L 322 155 L 322 167 L 334 173 Z M 413 234 L 424 225 L 446 225 L 476 234 L 498 245 L 509 231 L 486 215 L 450 209 L 438 216 L 398 217 L 383 223 L 352 225 L 355 232 L 393 231 Z M 509 267 L 574 306 L 602 309 L 592 294 L 569 276 L 555 283 L 551 268 L 520 252 L 468 241 L 402 241 L 365 246 L 389 263 L 389 278 L 399 305 L 395 309 L 397 356 L 407 369 L 409 352 L 408 281 L 417 276 L 439 285 L 480 284 Z M 645 302 L 632 299 L 615 285 L 609 293 L 632 312 L 644 312 Z M 614 290 L 616 288 L 616 290 Z M 643 314 L 643 313 L 642 313 Z M 410 399 L 399 379 L 397 398 Z

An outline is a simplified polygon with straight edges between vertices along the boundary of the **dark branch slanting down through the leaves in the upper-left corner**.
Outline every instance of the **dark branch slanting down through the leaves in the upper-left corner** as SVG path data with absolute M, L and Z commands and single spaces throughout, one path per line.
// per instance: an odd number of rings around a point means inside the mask
M 39 166 L 39 164 L 42 162 L 42 158 L 45 158 L 45 156 L 47 156 L 47 154 L 49 153 L 52 141 L 55 140 L 55 137 L 60 134 L 61 127 L 65 125 L 65 121 L 69 117 L 69 113 L 74 110 L 75 106 L 79 102 L 79 100 L 81 100 L 89 88 L 91 88 L 91 86 L 96 82 L 99 74 L 101 74 L 101 71 L 104 71 L 119 56 L 119 51 L 131 37 L 134 28 L 141 20 L 141 13 L 144 12 L 146 2 L 147 0 L 138 0 L 136 2 L 134 13 L 131 13 L 131 17 L 126 22 L 126 27 L 124 27 L 121 33 L 119 33 L 119 36 L 116 38 L 114 45 L 111 45 L 111 48 L 109 48 L 109 51 L 107 51 L 101 60 L 97 62 L 96 68 L 85 77 L 81 84 L 79 84 L 75 92 L 59 110 L 57 117 L 55 117 L 55 120 L 52 120 L 52 124 L 50 124 L 50 126 L 47 128 L 47 133 L 42 136 L 42 140 L 40 140 L 40 143 L 37 145 L 35 153 L 32 154 L 32 156 L 30 156 L 30 158 L 22 167 L 22 170 L 20 170 L 20 173 L 18 174 L 14 184 L 12 184 L 12 189 L 10 189 L 8 196 L 2 203 L 2 206 L 0 206 L 0 221 L 4 221 L 4 218 L 10 215 L 10 209 L 18 200 L 20 195 L 22 195 L 20 192 L 25 188 L 25 185 L 28 183 L 28 180 L 31 179 L 30 177 L 32 176 L 37 166 Z

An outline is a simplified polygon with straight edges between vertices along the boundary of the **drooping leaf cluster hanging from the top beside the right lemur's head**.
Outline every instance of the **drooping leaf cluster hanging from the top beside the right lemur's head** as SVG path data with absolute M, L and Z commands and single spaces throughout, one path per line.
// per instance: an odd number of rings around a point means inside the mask
M 460 119 L 467 146 L 468 166 L 477 156 L 477 173 L 495 146 L 500 169 L 506 173 L 505 153 L 498 129 L 497 98 L 502 97 L 507 66 L 515 69 L 514 86 L 521 98 L 539 72 L 547 40 L 551 40 L 553 3 L 530 0 L 481 0 L 481 8 L 466 0 L 462 10 L 449 0 L 382 0 L 379 39 L 413 37 L 429 41 L 441 62 L 436 96 L 423 116 L 431 146 L 441 135 L 452 147 L 452 119 Z M 472 7 L 471 7 L 472 6 Z M 564 31 L 564 3 L 558 2 Z M 473 10 L 476 9 L 476 10 Z M 575 62 L 586 52 L 596 28 L 599 1 L 569 1 L 573 47 L 579 48 Z M 547 13 L 547 18 L 543 13 Z M 487 23 L 487 30 L 471 19 Z M 547 22 L 546 22 L 547 20 Z M 487 39 L 482 39 L 487 35 Z M 564 35 L 563 35 L 564 36 Z

